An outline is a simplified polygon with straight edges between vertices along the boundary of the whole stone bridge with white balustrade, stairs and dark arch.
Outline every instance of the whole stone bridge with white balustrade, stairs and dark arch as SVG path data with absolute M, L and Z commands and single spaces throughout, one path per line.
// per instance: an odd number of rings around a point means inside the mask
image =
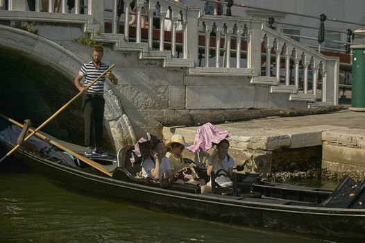
M 69 12 L 65 0 L 60 12 L 53 12 L 53 1 L 41 12 L 40 2 L 35 11 L 25 0 L 10 0 L 8 10 L 0 10 L 1 102 L 12 104 L 2 112 L 35 117 L 35 125 L 77 94 L 74 76 L 91 58 L 91 48 L 80 42 L 103 42 L 103 60 L 116 65 L 119 84 L 106 83 L 104 94 L 105 131 L 114 148 L 133 144 L 146 131 L 162 135 L 155 118 L 164 115 L 337 105 L 338 58 L 261 20 L 203 15 L 173 0 L 150 0 L 144 15 L 137 0 L 137 21 L 129 26 L 130 0 L 121 16 L 117 1 L 85 1 L 85 14 L 78 4 Z M 159 25 L 142 28 L 142 18 Z M 49 131 L 72 140 L 83 133 L 82 123 L 79 102 Z

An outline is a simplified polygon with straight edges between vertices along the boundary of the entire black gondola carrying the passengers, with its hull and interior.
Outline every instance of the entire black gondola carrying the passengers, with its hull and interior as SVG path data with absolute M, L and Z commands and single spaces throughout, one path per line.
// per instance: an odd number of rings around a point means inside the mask
M 11 126 L 0 132 L 0 144 L 12 149 L 20 129 Z M 14 133 L 13 135 L 11 135 Z M 81 146 L 62 142 L 68 149 L 83 153 Z M 161 187 L 160 183 L 136 176 L 140 166 L 132 167 L 130 147 L 117 156 L 90 156 L 112 176 L 90 167 L 49 142 L 33 136 L 14 156 L 53 183 L 108 199 L 158 208 L 187 217 L 269 228 L 285 232 L 342 238 L 348 242 L 365 239 L 365 183 L 346 179 L 336 190 L 285 185 L 260 181 L 256 174 L 235 174 L 233 187 L 212 185 L 212 194 L 201 194 L 194 183 Z

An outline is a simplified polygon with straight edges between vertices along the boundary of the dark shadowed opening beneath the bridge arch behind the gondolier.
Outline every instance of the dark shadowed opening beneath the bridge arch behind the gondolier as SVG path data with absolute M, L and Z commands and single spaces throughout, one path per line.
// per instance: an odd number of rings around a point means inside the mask
M 78 92 L 73 81 L 26 53 L 0 47 L 0 56 L 0 112 L 12 119 L 22 123 L 28 118 L 40 126 Z M 81 103 L 71 103 L 42 131 L 83 144 Z

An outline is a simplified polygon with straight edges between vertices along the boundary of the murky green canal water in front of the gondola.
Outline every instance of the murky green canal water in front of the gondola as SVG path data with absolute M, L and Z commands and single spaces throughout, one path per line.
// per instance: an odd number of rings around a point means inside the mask
M 7 160 L 0 165 L 0 242 L 349 242 L 216 224 L 83 196 Z

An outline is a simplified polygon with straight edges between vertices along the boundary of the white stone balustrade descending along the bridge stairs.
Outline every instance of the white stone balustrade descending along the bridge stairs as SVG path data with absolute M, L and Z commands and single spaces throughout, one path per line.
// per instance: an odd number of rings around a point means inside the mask
M 199 16 L 197 8 L 190 8 L 173 0 L 150 0 L 148 6 L 144 0 L 135 0 L 135 12 L 130 9 L 133 0 L 109 0 L 112 5 L 112 10 L 109 11 L 112 12 L 113 34 L 119 33 L 122 12 L 119 9 L 120 1 L 124 3 L 124 18 L 122 18 L 124 43 L 147 42 L 148 50 L 171 51 L 171 58 L 192 60 L 195 67 L 198 66 L 200 48 L 201 53 L 204 53 L 204 67 L 250 69 L 253 78 L 261 76 L 262 59 L 264 59 L 266 62 L 264 76 L 269 79 L 273 76 L 272 78 L 277 81 L 272 85 L 295 87 L 295 92 L 303 87 L 303 91 L 299 92 L 314 96 L 320 89 L 321 101 L 337 103 L 334 94 L 338 84 L 339 61 L 326 58 L 321 53 L 265 27 L 262 21 L 244 17 Z M 10 0 L 9 10 L 26 10 L 25 7 L 19 7 L 20 2 L 26 6 L 26 1 Z M 87 0 L 85 3 L 87 14 L 94 18 L 93 24 L 99 24 L 103 33 L 105 9 L 101 6 L 104 6 L 104 0 Z M 40 11 L 40 6 L 41 1 L 36 0 L 35 12 Z M 67 0 L 61 0 L 60 6 L 62 13 L 66 13 Z M 53 12 L 54 7 L 54 0 L 49 0 L 48 11 Z M 74 14 L 80 14 L 80 0 L 75 1 L 74 7 Z M 142 10 L 144 8 L 146 14 Z M 129 25 L 131 14 L 136 15 L 137 19 L 136 26 L 133 26 L 135 28 L 133 36 L 130 36 L 130 31 L 133 31 Z M 146 31 L 143 31 L 145 26 L 142 26 L 142 18 L 148 19 Z M 204 37 L 204 42 L 199 42 L 203 40 L 199 37 Z M 180 50 L 182 57 L 176 54 Z M 312 75 L 309 75 L 310 72 Z M 285 77 L 283 80 L 282 76 Z M 312 82 L 312 92 L 310 82 Z

